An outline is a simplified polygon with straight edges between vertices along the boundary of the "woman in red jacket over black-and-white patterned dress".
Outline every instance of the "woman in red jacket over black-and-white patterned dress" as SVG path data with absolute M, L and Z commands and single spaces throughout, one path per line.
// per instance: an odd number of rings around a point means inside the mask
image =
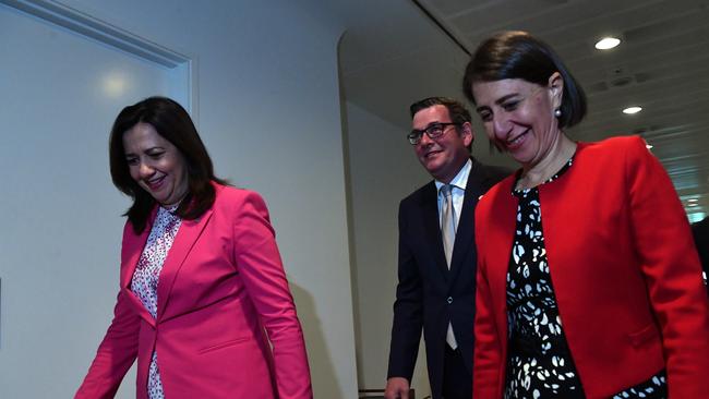
M 586 99 L 522 32 L 464 87 L 521 169 L 476 209 L 473 397 L 709 398 L 709 311 L 689 225 L 640 137 L 576 143 Z

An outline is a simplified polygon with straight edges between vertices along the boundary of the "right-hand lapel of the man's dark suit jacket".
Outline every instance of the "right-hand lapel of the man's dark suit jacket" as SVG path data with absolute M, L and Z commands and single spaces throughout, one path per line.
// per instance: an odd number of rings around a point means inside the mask
M 472 166 L 470 168 L 470 174 L 468 174 L 468 182 L 466 183 L 466 194 L 462 198 L 462 210 L 460 211 L 458 229 L 456 230 L 456 241 L 453 245 L 449 281 L 455 281 L 455 277 L 460 271 L 460 268 L 462 268 L 468 251 L 474 246 L 476 205 L 478 205 L 480 195 L 484 194 L 488 184 L 488 177 L 482 166 L 474 159 L 471 160 Z

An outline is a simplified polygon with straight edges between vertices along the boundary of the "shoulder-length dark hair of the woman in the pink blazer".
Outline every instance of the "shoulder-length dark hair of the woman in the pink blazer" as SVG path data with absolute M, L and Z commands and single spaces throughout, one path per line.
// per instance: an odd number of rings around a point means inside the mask
M 131 178 L 123 148 L 123 134 L 141 122 L 152 125 L 182 155 L 188 174 L 188 194 L 176 213 L 183 219 L 199 218 L 214 204 L 216 191 L 212 181 L 227 182 L 214 176 L 212 159 L 190 114 L 177 101 L 166 97 L 149 97 L 125 107 L 113 122 L 108 149 L 111 179 L 118 190 L 133 198 L 133 205 L 123 216 L 128 216 L 133 230 L 141 233 L 156 204 L 155 198 Z

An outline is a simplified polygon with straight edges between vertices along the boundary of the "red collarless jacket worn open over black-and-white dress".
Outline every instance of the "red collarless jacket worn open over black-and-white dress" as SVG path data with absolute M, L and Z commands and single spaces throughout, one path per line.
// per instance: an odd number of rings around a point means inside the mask
M 494 186 L 476 209 L 478 399 L 504 391 L 514 181 Z M 574 165 L 539 195 L 552 283 L 587 398 L 609 398 L 662 368 L 670 398 L 709 398 L 699 259 L 674 188 L 645 142 L 580 143 Z

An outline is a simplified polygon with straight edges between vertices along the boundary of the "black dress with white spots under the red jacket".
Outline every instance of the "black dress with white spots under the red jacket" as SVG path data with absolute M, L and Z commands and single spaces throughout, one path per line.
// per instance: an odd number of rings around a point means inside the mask
M 544 184 L 562 176 L 573 158 Z M 552 287 L 539 190 L 514 190 L 517 223 L 507 270 L 508 351 L 505 399 L 585 398 Z M 615 398 L 666 398 L 664 371 Z

